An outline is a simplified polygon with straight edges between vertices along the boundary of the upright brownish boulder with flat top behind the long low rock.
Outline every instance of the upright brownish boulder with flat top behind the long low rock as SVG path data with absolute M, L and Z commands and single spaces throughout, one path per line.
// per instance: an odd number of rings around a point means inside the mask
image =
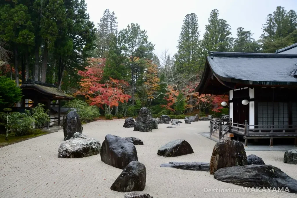
M 214 146 L 210 159 L 210 174 L 223 167 L 244 165 L 247 165 L 247 154 L 241 142 L 225 140 Z

